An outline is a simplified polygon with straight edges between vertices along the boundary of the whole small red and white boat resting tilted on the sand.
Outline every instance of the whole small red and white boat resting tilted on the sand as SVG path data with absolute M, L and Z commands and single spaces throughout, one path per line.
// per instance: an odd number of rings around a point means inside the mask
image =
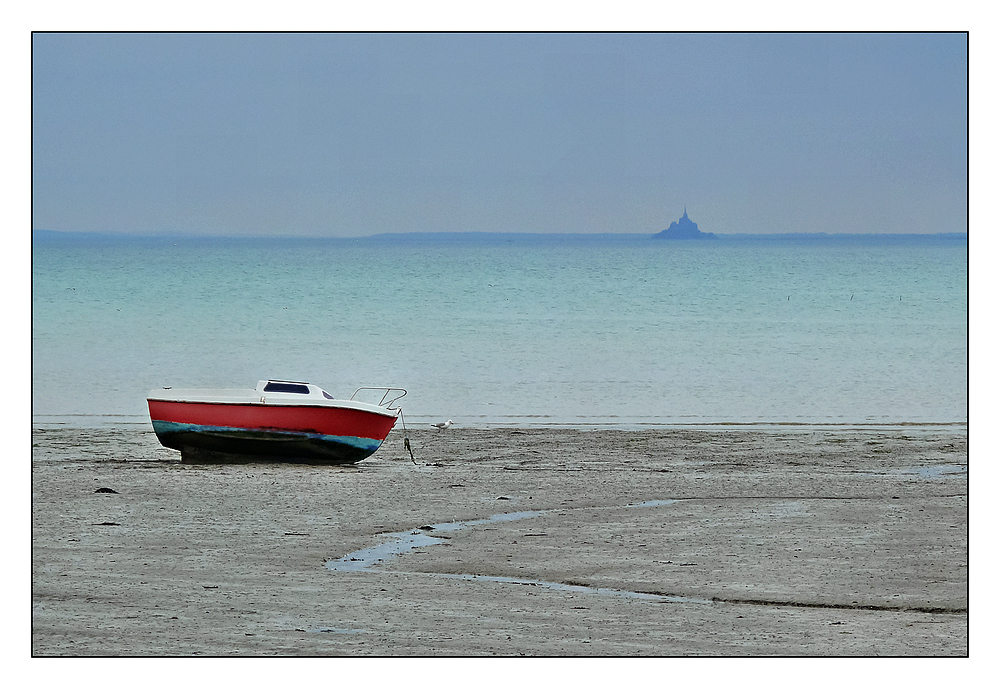
M 360 393 L 382 399 L 355 400 Z M 354 464 L 382 445 L 405 394 L 358 388 L 338 400 L 311 383 L 262 380 L 253 390 L 152 390 L 146 402 L 156 437 L 182 462 Z

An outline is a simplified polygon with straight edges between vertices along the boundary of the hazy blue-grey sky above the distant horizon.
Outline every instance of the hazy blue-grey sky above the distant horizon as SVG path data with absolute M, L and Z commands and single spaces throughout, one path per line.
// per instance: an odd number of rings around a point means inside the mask
M 967 231 L 964 34 L 35 34 L 35 229 Z

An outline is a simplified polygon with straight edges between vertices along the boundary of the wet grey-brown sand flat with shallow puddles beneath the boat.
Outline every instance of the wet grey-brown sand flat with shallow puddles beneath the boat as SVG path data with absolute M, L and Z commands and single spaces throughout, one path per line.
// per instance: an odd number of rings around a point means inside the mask
M 410 439 L 185 465 L 35 428 L 32 654 L 968 654 L 965 427 Z

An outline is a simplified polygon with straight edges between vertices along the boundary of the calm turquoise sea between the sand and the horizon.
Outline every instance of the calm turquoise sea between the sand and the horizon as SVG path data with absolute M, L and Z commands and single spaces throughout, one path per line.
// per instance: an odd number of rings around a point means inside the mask
M 404 388 L 407 427 L 961 425 L 947 235 L 34 232 L 33 424 L 148 425 L 155 388 Z

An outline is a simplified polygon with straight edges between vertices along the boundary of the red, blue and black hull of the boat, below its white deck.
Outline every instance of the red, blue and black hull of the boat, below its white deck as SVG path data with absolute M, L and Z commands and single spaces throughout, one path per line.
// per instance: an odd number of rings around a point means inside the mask
M 350 407 L 148 400 L 160 442 L 181 460 L 353 464 L 381 446 L 395 415 Z

